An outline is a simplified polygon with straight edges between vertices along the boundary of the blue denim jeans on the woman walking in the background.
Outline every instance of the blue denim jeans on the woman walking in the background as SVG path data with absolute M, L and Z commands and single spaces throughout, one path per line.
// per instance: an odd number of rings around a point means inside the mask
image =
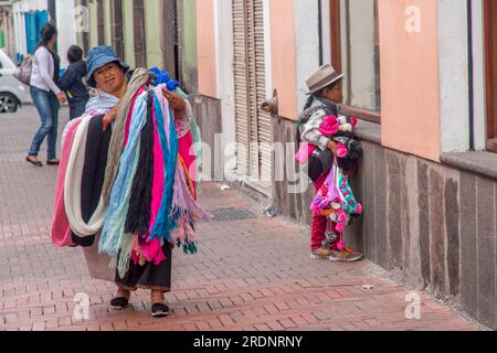
M 46 92 L 31 86 L 31 97 L 36 106 L 41 118 L 41 127 L 33 138 L 30 148 L 30 156 L 38 156 L 43 140 L 47 138 L 47 160 L 56 158 L 59 109 L 61 107 L 57 97 L 53 92 Z

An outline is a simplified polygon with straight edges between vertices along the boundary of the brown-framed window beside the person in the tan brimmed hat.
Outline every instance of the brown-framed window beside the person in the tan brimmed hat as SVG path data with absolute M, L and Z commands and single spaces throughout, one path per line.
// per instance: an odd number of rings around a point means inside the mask
M 346 74 L 343 110 L 380 122 L 378 0 L 330 0 L 331 62 Z

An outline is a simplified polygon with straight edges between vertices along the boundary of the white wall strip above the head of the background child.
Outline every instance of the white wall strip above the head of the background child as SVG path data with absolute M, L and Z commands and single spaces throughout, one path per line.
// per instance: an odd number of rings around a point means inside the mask
M 66 53 L 71 45 L 77 44 L 76 39 L 76 14 L 73 0 L 56 0 L 55 4 L 59 31 L 59 54 L 61 56 L 61 67 L 68 65 Z

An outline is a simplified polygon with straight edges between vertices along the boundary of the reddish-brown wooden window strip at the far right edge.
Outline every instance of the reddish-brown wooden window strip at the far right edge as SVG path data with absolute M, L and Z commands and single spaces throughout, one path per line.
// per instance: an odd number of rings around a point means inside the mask
M 487 149 L 497 152 L 497 3 L 485 1 Z

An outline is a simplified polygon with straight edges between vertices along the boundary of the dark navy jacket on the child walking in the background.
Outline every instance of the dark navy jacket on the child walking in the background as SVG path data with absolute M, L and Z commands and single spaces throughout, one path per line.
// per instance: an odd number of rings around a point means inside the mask
M 60 88 L 66 93 L 70 104 L 78 104 L 88 101 L 89 94 L 83 77 L 87 74 L 86 63 L 80 61 L 72 63 L 64 73 L 64 76 L 60 79 Z

